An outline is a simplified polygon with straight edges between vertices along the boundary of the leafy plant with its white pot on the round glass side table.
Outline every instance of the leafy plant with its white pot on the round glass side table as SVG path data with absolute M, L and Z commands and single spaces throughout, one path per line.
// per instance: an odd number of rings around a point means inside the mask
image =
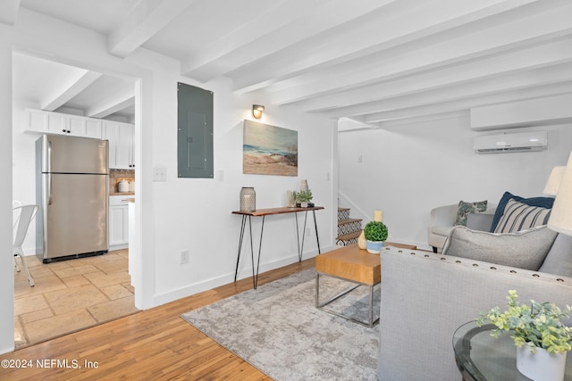
M 572 327 L 565 326 L 560 319 L 569 318 L 572 308 L 567 305 L 561 311 L 551 302 L 521 304 L 517 297 L 515 290 L 509 290 L 507 311 L 502 312 L 496 306 L 481 312 L 477 326 L 490 321 L 495 326 L 493 337 L 499 337 L 502 331 L 512 332 L 510 337 L 517 346 L 517 369 L 526 377 L 539 379 L 540 375 L 543 380 L 562 380 L 566 355 L 572 349 Z

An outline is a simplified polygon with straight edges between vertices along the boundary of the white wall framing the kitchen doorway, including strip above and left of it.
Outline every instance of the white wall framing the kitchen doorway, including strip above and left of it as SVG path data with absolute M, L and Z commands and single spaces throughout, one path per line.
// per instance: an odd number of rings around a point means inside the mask
M 118 59 L 106 54 L 103 36 L 21 11 L 15 27 L 0 25 L 0 44 L 8 46 L 0 52 L 1 59 L 6 58 L 6 52 L 13 48 L 24 53 L 33 51 L 33 54 L 44 58 L 51 57 L 79 67 L 141 79 L 136 95 L 139 115 L 135 120 L 138 232 L 134 246 L 140 252 L 144 277 L 142 290 L 136 290 L 139 305 L 149 308 L 233 279 L 240 217 L 232 215 L 231 211 L 239 209 L 241 186 L 256 188 L 257 207 L 275 207 L 285 205 L 286 191 L 298 189 L 300 180 L 306 178 L 315 195 L 315 203 L 326 208 L 316 212 L 322 251 L 333 247 L 337 179 L 332 162 L 337 145 L 336 126 L 332 120 L 303 114 L 291 107 L 273 107 L 268 95 L 235 95 L 226 79 L 194 83 L 178 74 L 177 62 L 156 54 L 141 51 L 127 60 Z M 0 79 L 11 78 L 10 66 L 0 66 Z M 223 170 L 223 180 L 176 177 L 177 81 L 214 91 L 214 169 L 215 174 Z M 242 120 L 250 118 L 254 103 L 266 106 L 262 122 L 299 131 L 298 177 L 242 174 Z M 21 113 L 23 106 L 13 105 L 9 95 L 0 96 L 2 120 L 12 120 L 13 108 L 16 111 L 12 128 L 14 135 L 21 134 L 17 114 Z M 4 129 L 5 137 L 1 139 L 4 145 L 10 145 L 12 141 L 10 132 L 10 128 Z M 14 198 L 22 201 L 29 200 L 29 189 L 33 188 L 33 169 L 30 172 L 33 167 L 29 165 L 29 155 L 33 156 L 33 140 L 33 137 L 23 134 L 13 139 L 13 161 L 18 169 L 13 184 Z M 4 147 L 3 152 L 8 154 L 11 150 L 11 146 Z M 156 166 L 167 169 L 166 182 L 152 181 L 152 169 Z M 11 169 L 5 168 L 4 171 L 8 172 L 4 179 L 10 180 Z M 11 188 L 9 184 L 8 188 Z M 12 202 L 11 193 L 12 189 L 1 195 L 3 210 L 7 211 L 8 202 Z M 5 213 L 2 226 L 10 226 L 12 220 L 8 215 Z M 308 219 L 308 223 L 311 221 Z M 260 220 L 253 222 L 257 244 Z M 291 214 L 266 219 L 261 272 L 298 260 L 294 226 Z M 7 235 L 0 236 L 3 247 L 7 247 L 8 241 Z M 306 239 L 304 258 L 315 255 L 316 249 L 312 231 Z M 189 250 L 189 264 L 179 264 L 181 250 Z M 249 260 L 245 255 L 244 261 L 240 262 L 240 277 L 251 274 L 247 258 Z M 2 268 L 6 274 L 0 277 L 0 289 L 3 290 L 0 295 L 4 306 L 10 306 L 12 300 L 12 308 L 0 311 L 0 352 L 13 347 L 13 269 L 8 256 L 3 261 Z

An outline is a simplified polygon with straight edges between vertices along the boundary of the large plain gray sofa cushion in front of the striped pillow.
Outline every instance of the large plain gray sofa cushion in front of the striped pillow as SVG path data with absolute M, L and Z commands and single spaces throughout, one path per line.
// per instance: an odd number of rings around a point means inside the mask
M 442 253 L 518 269 L 538 270 L 557 235 L 545 226 L 502 234 L 455 227 L 450 231 Z

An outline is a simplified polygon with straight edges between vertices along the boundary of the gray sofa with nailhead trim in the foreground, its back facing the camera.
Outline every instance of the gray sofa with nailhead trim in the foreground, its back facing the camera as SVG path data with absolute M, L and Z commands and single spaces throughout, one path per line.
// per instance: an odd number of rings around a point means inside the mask
M 379 380 L 456 380 L 452 337 L 481 311 L 519 300 L 572 303 L 572 237 L 558 235 L 541 269 L 387 247 L 381 253 Z M 566 275 L 563 275 L 565 274 Z

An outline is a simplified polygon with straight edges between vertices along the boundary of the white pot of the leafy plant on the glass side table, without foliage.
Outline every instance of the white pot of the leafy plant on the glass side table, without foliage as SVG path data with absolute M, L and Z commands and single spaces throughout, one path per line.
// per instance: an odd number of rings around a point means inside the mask
M 523 345 L 517 347 L 517 369 L 534 381 L 562 381 L 567 353 L 549 353 L 543 348 L 536 348 L 536 352 L 531 353 Z

